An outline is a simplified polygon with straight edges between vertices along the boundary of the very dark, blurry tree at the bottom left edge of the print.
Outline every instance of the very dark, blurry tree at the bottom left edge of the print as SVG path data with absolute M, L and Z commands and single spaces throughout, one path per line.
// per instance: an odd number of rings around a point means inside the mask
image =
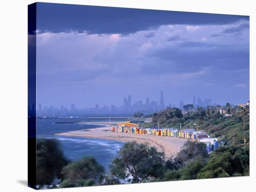
M 68 161 L 60 142 L 56 139 L 37 139 L 36 148 L 37 185 L 50 185 L 55 178 L 61 179 L 61 170 Z

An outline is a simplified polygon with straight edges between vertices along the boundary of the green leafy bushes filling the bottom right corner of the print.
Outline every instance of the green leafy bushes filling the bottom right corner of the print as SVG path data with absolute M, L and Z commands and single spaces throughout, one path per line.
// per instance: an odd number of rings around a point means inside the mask
M 249 148 L 222 146 L 209 157 L 197 156 L 178 170 L 165 172 L 164 180 L 208 179 L 249 175 Z

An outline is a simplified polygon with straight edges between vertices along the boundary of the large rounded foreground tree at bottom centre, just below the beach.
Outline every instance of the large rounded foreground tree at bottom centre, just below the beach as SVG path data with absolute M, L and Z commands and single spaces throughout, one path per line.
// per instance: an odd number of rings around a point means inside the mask
M 126 143 L 110 166 L 117 179 L 132 176 L 132 183 L 153 181 L 163 177 L 164 153 L 137 142 Z

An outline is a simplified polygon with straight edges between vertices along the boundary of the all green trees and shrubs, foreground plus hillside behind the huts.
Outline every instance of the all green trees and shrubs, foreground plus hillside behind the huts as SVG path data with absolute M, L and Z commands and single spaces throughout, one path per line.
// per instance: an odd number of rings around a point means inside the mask
M 228 104 L 227 104 L 228 105 Z M 187 106 L 191 107 L 191 106 Z M 147 143 L 127 142 L 106 172 L 94 157 L 69 161 L 56 139 L 37 140 L 37 188 L 115 185 L 184 179 L 249 175 L 249 115 L 223 117 L 197 108 L 182 114 L 178 108 L 153 113 L 143 127 L 196 128 L 217 137 L 221 145 L 208 153 L 206 145 L 188 140 L 174 156 L 166 157 Z M 244 128 L 243 128 L 244 125 Z M 244 142 L 244 134 L 246 142 Z

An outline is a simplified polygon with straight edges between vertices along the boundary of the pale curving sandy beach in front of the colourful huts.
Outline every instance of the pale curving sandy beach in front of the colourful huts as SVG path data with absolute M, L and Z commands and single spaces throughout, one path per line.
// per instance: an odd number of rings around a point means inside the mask
M 155 146 L 159 151 L 164 152 L 166 157 L 171 154 L 176 155 L 187 141 L 186 139 L 162 137 L 155 135 L 144 135 L 124 132 L 112 132 L 112 126 L 119 122 L 111 122 L 111 127 L 108 122 L 89 122 L 88 124 L 94 125 L 108 125 L 105 127 L 97 127 L 86 130 L 62 132 L 54 135 L 59 136 L 72 136 L 72 137 L 86 137 L 86 138 L 101 138 L 110 140 L 119 140 L 124 142 L 137 141 L 138 143 L 147 142 L 150 146 Z

